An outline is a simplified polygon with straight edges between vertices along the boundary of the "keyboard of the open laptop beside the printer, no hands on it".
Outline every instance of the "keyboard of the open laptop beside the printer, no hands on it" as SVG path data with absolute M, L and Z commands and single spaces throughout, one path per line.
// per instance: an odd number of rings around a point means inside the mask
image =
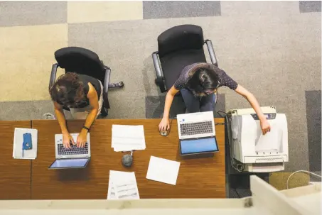
M 213 122 L 185 123 L 180 125 L 181 136 L 196 135 L 201 133 L 213 133 Z

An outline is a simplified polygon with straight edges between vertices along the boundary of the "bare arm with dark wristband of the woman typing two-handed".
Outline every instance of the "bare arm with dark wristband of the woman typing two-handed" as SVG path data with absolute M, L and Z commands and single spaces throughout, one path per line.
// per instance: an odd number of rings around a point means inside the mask
M 99 104 L 98 104 L 98 97 L 97 97 L 97 92 L 95 88 L 92 86 L 92 84 L 88 83 L 88 86 L 90 89 L 88 90 L 87 98 L 90 100 L 90 106 L 92 106 L 92 110 L 90 113 L 87 115 L 87 118 L 85 120 L 84 126 L 87 128 L 90 128 L 92 126 L 92 123 L 94 123 L 98 109 L 99 109 Z M 82 128 L 80 131 L 80 135 L 77 138 L 77 147 L 84 147 L 85 143 L 87 141 L 87 129 Z

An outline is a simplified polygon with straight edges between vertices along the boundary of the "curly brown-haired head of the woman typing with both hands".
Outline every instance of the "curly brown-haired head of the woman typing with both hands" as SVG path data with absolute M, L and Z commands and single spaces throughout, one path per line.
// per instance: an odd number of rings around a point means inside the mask
M 85 93 L 82 82 L 78 75 L 68 72 L 60 75 L 49 89 L 50 97 L 58 104 L 68 107 L 75 107 L 84 101 Z

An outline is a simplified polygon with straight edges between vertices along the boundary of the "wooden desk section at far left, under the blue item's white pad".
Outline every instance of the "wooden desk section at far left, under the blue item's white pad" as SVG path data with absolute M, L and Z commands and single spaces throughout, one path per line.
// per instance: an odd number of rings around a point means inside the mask
M 31 121 L 0 121 L 0 199 L 31 199 L 31 161 L 12 158 L 14 128 Z

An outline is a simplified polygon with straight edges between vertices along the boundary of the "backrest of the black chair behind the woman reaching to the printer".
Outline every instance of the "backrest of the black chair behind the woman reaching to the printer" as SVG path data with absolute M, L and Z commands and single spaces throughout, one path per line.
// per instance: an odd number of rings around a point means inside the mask
M 158 37 L 159 56 L 178 50 L 199 50 L 203 48 L 203 28 L 195 25 L 181 25 L 169 28 Z

